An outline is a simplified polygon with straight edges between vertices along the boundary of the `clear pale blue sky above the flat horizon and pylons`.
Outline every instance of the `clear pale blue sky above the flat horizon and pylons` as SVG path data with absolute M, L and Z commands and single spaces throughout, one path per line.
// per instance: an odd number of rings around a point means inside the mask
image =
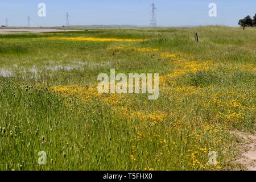
M 238 26 L 238 20 L 256 14 L 255 0 L 0 0 L 0 25 L 32 27 L 65 25 L 131 24 L 149 26 L 150 5 L 155 3 L 158 26 Z M 38 4 L 46 4 L 46 17 L 38 16 Z M 217 17 L 210 17 L 209 3 L 216 3 Z

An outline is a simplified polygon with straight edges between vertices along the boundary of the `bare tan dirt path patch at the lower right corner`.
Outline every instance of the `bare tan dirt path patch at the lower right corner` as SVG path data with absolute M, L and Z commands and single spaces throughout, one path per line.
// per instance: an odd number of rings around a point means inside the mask
M 256 135 L 240 131 L 235 131 L 234 134 L 245 140 L 240 148 L 241 158 L 237 160 L 237 163 L 245 166 L 247 171 L 256 171 Z

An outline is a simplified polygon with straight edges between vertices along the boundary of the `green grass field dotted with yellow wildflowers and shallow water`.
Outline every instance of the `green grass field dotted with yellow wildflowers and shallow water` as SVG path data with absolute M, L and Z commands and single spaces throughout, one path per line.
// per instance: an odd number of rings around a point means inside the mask
M 218 26 L 0 35 L 0 170 L 242 169 L 233 131 L 255 134 L 255 42 L 255 28 Z M 112 68 L 159 73 L 159 99 L 98 94 Z

